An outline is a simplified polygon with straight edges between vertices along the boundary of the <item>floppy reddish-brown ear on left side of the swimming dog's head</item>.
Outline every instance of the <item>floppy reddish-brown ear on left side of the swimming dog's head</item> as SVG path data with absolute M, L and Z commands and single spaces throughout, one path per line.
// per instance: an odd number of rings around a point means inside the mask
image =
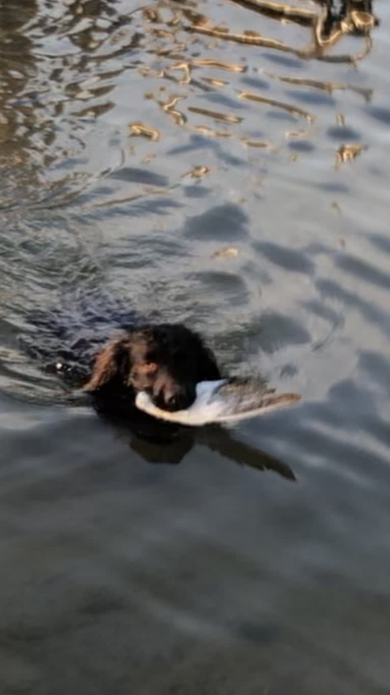
M 108 384 L 111 379 L 122 375 L 126 381 L 125 372 L 129 370 L 130 349 L 124 338 L 115 338 L 103 347 L 96 357 L 92 376 L 83 386 L 83 391 L 97 391 Z

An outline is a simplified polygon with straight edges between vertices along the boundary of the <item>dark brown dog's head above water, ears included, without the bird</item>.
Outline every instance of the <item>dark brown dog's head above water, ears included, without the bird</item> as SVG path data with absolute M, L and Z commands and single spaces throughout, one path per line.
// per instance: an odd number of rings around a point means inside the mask
M 149 325 L 107 343 L 84 390 L 101 402 L 134 400 L 137 391 L 147 391 L 158 407 L 175 411 L 194 402 L 198 382 L 220 378 L 217 361 L 201 336 L 183 325 Z

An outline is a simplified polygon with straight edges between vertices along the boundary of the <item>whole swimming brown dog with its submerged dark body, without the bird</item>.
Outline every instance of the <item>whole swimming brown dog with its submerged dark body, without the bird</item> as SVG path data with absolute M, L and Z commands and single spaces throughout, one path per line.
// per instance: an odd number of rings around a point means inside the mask
M 146 389 L 160 407 L 175 410 L 192 404 L 198 382 L 221 376 L 201 336 L 181 324 L 145 324 L 101 288 L 34 309 L 28 325 L 19 344 L 30 359 L 72 391 L 90 394 L 100 416 L 149 441 L 171 441 L 180 427 L 137 409 L 137 391 Z

